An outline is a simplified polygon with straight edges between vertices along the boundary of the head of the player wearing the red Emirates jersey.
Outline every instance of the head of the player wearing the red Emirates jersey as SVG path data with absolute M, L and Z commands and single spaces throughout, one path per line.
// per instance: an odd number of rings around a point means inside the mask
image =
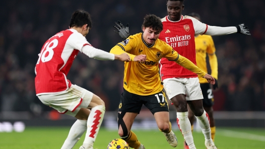
M 184 9 L 183 1 L 170 1 L 167 2 L 169 19 L 178 21 L 181 18 L 181 12 Z

